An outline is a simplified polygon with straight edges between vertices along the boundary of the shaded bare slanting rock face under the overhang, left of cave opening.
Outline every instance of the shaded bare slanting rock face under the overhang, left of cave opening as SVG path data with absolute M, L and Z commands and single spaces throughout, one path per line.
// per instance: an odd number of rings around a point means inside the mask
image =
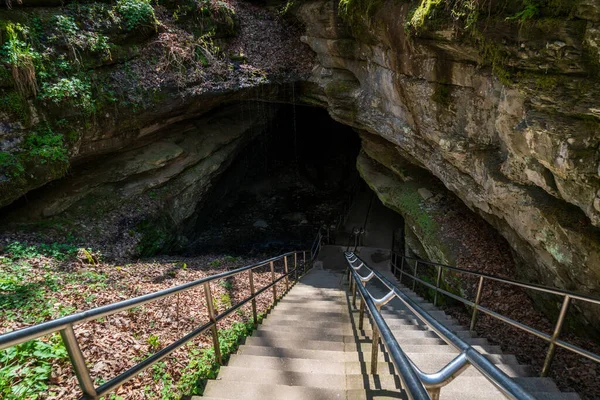
M 5 226 L 69 228 L 107 245 L 114 257 L 182 245 L 179 234 L 195 226 L 197 208 L 221 173 L 268 120 L 253 105 L 237 104 L 167 124 L 146 144 L 83 164 L 53 182 L 5 214 Z

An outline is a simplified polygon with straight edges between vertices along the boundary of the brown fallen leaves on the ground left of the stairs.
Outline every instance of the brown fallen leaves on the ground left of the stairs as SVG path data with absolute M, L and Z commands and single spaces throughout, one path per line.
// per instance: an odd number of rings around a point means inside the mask
M 264 257 L 266 258 L 266 256 Z M 263 259 L 263 258 L 261 258 Z M 102 282 L 88 285 L 85 281 L 64 280 L 60 290 L 53 293 L 56 304 L 72 307 L 75 311 L 107 305 L 140 295 L 193 282 L 206 276 L 253 264 L 258 258 L 202 256 L 194 258 L 161 257 L 127 265 L 98 263 L 84 264 L 80 260 L 58 263 L 53 259 L 30 260 L 40 274 L 54 274 L 59 282 L 64 274 L 93 271 L 104 276 Z M 293 261 L 291 261 L 293 263 Z M 37 263 L 37 264 L 36 264 Z M 44 267 L 42 270 L 41 268 Z M 49 268 L 49 269 L 48 269 Z M 283 274 L 283 261 L 275 263 L 276 277 Z M 68 272 L 67 272 L 68 271 Z M 35 278 L 31 278 L 35 280 Z M 271 282 L 269 265 L 254 270 L 256 291 Z M 285 281 L 277 284 L 278 296 L 285 290 Z M 210 284 L 213 304 L 217 313 L 241 302 L 250 295 L 249 275 L 243 272 L 234 277 Z M 273 292 L 268 289 L 257 297 L 259 313 L 272 305 Z M 234 322 L 252 319 L 250 303 L 231 313 L 219 323 L 219 329 Z M 208 309 L 203 285 L 128 311 L 75 325 L 79 345 L 85 355 L 96 385 L 104 383 L 131 368 L 149 355 L 208 322 Z M 11 320 L 0 312 L 2 332 L 23 328 L 28 324 L 16 318 Z M 212 346 L 212 336 L 200 335 L 174 353 L 161 366 L 160 374 L 169 374 L 175 383 L 190 361 L 190 349 Z M 152 368 L 133 378 L 116 391 L 125 399 L 160 399 L 165 388 Z M 185 394 L 185 393 L 182 393 Z M 81 395 L 77 380 L 68 362 L 54 362 L 51 390 L 45 398 L 72 399 Z

